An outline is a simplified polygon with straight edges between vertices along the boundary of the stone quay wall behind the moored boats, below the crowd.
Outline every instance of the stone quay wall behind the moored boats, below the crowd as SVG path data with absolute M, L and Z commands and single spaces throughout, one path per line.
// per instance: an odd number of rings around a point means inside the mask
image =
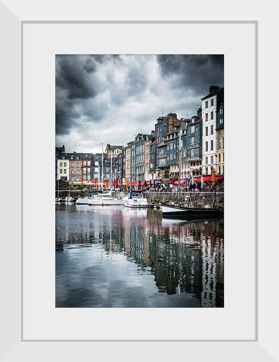
M 71 196 L 77 200 L 79 196 L 86 196 L 89 193 L 87 190 L 71 190 Z M 178 192 L 144 192 L 147 201 L 151 204 L 176 203 L 178 200 Z M 55 192 L 57 197 L 58 191 Z M 59 197 L 62 199 L 69 195 L 69 190 L 59 190 Z M 127 192 L 114 192 L 117 198 L 122 199 L 127 195 Z M 214 205 L 224 208 L 224 192 L 181 192 L 181 199 L 189 206 Z

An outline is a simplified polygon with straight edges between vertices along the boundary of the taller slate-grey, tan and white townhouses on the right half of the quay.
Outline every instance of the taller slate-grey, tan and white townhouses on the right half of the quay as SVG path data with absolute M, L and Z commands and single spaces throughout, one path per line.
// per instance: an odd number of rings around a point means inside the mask
M 126 182 L 176 177 L 181 139 L 182 178 L 224 175 L 224 88 L 211 86 L 197 115 L 177 119 L 176 113 L 157 118 L 151 134 L 139 133 L 118 155 L 119 177 Z

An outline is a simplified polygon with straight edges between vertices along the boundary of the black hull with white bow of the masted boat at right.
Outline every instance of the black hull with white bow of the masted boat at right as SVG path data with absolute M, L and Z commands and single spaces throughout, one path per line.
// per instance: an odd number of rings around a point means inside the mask
M 161 204 L 163 217 L 164 216 L 189 216 L 189 217 L 217 217 L 222 215 L 223 210 L 219 207 L 184 207 L 171 204 Z

